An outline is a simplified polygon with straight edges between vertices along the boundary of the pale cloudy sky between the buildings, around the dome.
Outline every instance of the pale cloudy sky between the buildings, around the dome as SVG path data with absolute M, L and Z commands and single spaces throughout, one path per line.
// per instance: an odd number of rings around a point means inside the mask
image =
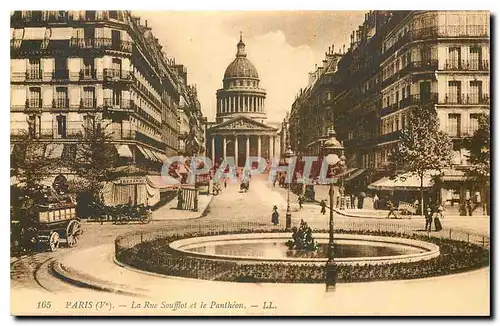
M 215 120 L 217 89 L 234 60 L 240 31 L 247 58 L 267 91 L 269 122 L 283 120 L 309 72 L 324 53 L 349 46 L 350 34 L 362 24 L 364 11 L 133 11 L 152 28 L 163 50 L 186 66 L 188 83 L 198 89 L 203 114 Z

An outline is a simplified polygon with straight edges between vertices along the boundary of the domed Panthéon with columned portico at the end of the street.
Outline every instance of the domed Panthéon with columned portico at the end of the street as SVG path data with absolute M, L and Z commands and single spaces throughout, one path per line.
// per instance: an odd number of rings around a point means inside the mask
M 249 156 L 271 160 L 279 156 L 277 128 L 266 123 L 266 91 L 260 88 L 259 74 L 247 59 L 240 37 L 236 58 L 229 64 L 217 90 L 215 123 L 207 128 L 207 150 L 212 162 L 219 164 L 234 157 L 244 167 Z

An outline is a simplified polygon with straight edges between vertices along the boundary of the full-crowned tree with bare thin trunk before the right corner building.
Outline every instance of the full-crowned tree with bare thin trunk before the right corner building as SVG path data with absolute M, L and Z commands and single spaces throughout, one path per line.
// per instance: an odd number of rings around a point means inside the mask
M 439 120 L 432 107 L 414 108 L 403 128 L 390 160 L 420 179 L 420 210 L 424 215 L 424 176 L 451 164 L 452 143 L 439 131 Z

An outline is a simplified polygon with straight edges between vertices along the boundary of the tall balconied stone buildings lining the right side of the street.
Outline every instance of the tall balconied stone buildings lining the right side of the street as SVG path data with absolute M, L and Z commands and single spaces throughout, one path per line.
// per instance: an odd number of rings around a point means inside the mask
M 307 146 L 311 139 L 304 138 L 333 121 L 347 165 L 362 170 L 357 177 L 366 187 L 387 175 L 389 153 L 409 110 L 430 105 L 454 143 L 443 200 L 463 202 L 473 192 L 460 185 L 468 164 L 463 140 L 477 129 L 478 116 L 490 110 L 489 42 L 486 11 L 367 13 L 327 86 L 326 94 L 332 93 L 328 108 L 318 112 L 315 107 L 324 71 L 317 69 L 320 77 L 299 93 L 290 112 L 292 147 L 315 154 L 317 149 Z M 323 121 L 319 128 L 307 121 L 310 116 Z M 333 120 L 326 122 L 324 116 Z

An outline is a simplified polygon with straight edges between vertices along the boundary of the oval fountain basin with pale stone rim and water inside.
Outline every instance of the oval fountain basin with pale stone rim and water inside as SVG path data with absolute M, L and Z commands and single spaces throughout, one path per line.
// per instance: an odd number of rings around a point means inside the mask
M 328 233 L 315 233 L 316 253 L 288 250 L 291 233 L 245 233 L 177 240 L 171 250 L 182 255 L 245 263 L 323 265 L 327 261 Z M 395 264 L 432 259 L 439 246 L 414 239 L 358 234 L 335 234 L 335 261 L 339 265 Z

